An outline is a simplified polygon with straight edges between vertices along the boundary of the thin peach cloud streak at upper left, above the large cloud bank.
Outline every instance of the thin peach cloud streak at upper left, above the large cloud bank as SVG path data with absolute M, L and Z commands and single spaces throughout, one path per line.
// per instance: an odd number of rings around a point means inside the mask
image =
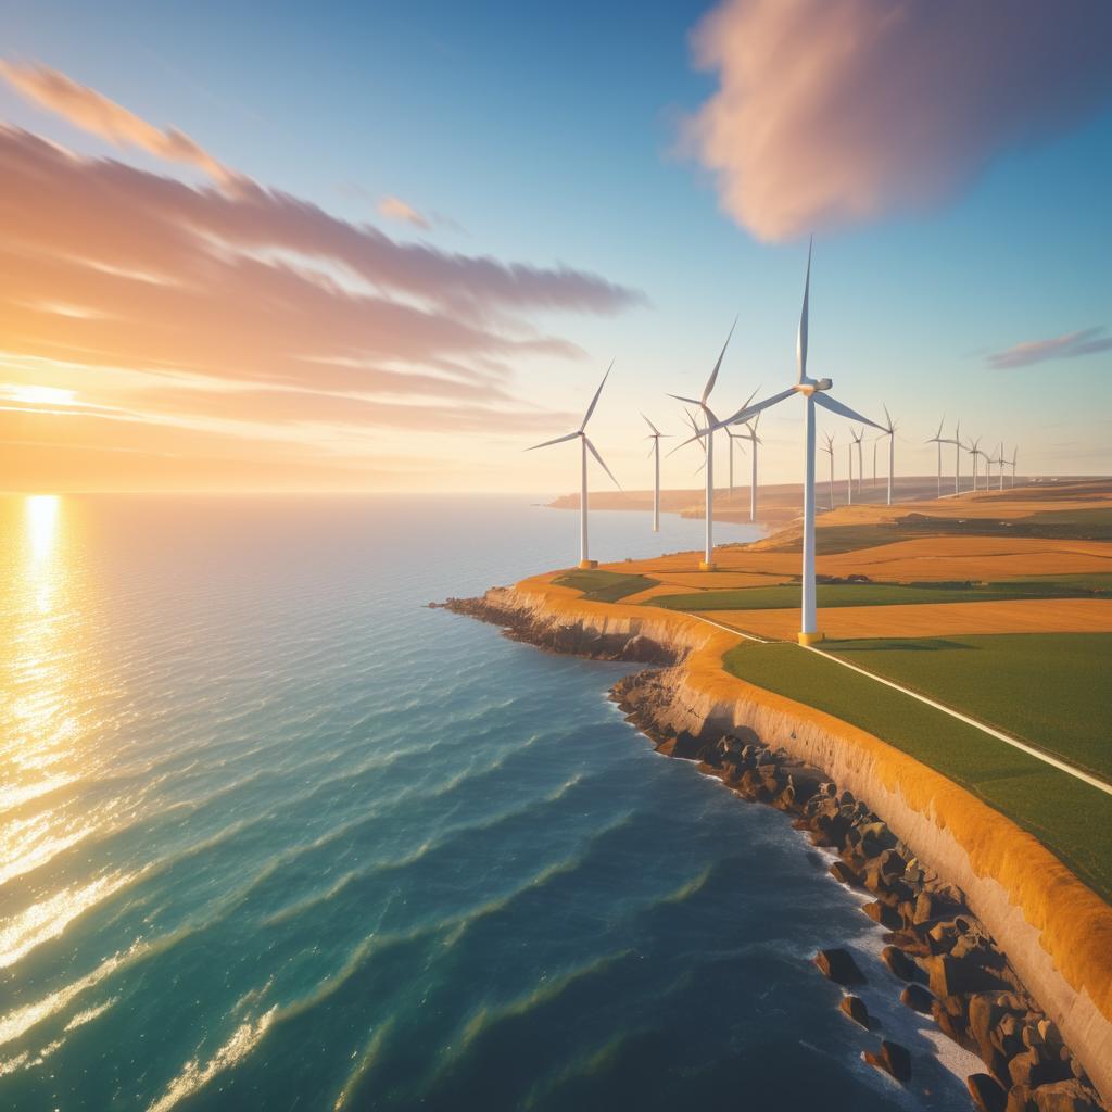
M 0 60 L 0 77 L 27 100 L 116 147 L 140 147 L 167 161 L 195 166 L 221 186 L 246 180 L 177 128 L 157 128 L 49 66 Z

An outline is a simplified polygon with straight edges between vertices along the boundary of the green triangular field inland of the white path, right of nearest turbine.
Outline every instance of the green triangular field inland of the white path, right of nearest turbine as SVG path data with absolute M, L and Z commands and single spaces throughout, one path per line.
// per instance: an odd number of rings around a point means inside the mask
M 1112 634 L 847 641 L 823 648 L 1112 781 Z

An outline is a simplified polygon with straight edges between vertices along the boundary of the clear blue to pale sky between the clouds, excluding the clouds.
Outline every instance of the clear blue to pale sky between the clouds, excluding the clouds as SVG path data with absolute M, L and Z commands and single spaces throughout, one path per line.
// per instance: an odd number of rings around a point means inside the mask
M 616 358 L 593 427 L 636 487 L 647 480 L 637 410 L 676 429 L 665 393 L 698 389 L 735 314 L 721 408 L 793 370 L 805 238 L 755 239 L 724 212 L 711 173 L 677 152 L 679 120 L 717 87 L 688 40 L 711 7 L 40 2 L 9 8 L 0 27 L 8 59 L 60 70 L 349 221 L 644 291 L 648 306 L 615 315 L 530 312 L 587 358 L 514 368 L 517 397 L 567 414 Z M 865 413 L 887 403 L 906 430 L 906 469 L 933 469 L 919 441 L 943 414 L 1019 441 L 1031 473 L 1109 469 L 1112 350 L 986 365 L 1020 342 L 1112 327 L 1112 106 L 1080 115 L 993 156 L 925 211 L 818 230 L 812 370 Z M 118 150 L 4 86 L 0 117 L 85 153 L 201 177 Z M 445 219 L 428 231 L 388 222 L 376 211 L 386 195 Z M 785 407 L 767 419 L 768 479 L 798 476 L 797 418 Z M 564 424 L 555 416 L 552 435 Z M 415 450 L 450 450 L 399 485 L 564 489 L 573 446 L 520 455 L 543 438 L 504 427 L 421 441 Z M 666 477 L 693 485 L 681 460 Z

